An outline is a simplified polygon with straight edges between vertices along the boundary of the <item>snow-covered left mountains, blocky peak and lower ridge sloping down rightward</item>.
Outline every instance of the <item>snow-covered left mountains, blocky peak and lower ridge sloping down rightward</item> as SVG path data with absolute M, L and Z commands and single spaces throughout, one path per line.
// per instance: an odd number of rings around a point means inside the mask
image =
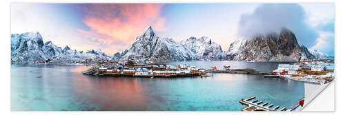
M 43 43 L 39 32 L 11 34 L 12 63 L 87 63 L 110 59 L 100 49 L 78 52 L 66 46 L 61 50 L 52 41 Z

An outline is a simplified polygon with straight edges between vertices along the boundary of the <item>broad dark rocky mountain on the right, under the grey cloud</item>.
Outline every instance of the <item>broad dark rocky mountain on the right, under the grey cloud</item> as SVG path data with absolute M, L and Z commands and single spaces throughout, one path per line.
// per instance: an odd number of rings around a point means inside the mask
M 299 46 L 293 32 L 282 28 L 279 35 L 257 34 L 253 39 L 231 43 L 225 58 L 235 61 L 303 61 L 315 58 L 307 51 Z

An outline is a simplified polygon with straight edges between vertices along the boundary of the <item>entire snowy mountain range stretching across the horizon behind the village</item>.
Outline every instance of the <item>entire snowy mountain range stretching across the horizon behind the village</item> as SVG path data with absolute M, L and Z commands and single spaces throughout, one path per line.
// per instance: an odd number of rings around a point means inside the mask
M 11 34 L 12 63 L 94 63 L 102 60 L 135 61 L 306 61 L 310 59 L 333 59 L 317 50 L 308 50 L 297 43 L 295 34 L 282 28 L 279 34 L 257 34 L 253 39 L 238 40 L 227 51 L 206 36 L 190 37 L 176 42 L 159 37 L 149 26 L 128 50 L 117 52 L 112 57 L 99 50 L 86 52 L 57 47 L 51 41 L 43 43 L 39 32 Z

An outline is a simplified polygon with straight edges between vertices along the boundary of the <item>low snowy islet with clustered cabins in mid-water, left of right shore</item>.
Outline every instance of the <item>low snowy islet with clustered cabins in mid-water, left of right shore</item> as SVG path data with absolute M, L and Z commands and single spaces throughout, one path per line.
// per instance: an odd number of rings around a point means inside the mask
M 257 72 L 252 68 L 245 69 L 231 69 L 229 66 L 224 66 L 218 69 L 216 66 L 210 67 L 206 70 L 202 67 L 193 65 L 166 65 L 164 63 L 154 63 L 152 61 L 134 62 L 134 61 L 115 61 L 112 63 L 102 63 L 91 67 L 83 74 L 92 74 L 97 76 L 135 76 L 135 77 L 193 77 L 201 76 L 207 77 L 213 73 L 227 73 L 227 74 L 257 74 L 257 75 L 272 75 L 270 72 Z

